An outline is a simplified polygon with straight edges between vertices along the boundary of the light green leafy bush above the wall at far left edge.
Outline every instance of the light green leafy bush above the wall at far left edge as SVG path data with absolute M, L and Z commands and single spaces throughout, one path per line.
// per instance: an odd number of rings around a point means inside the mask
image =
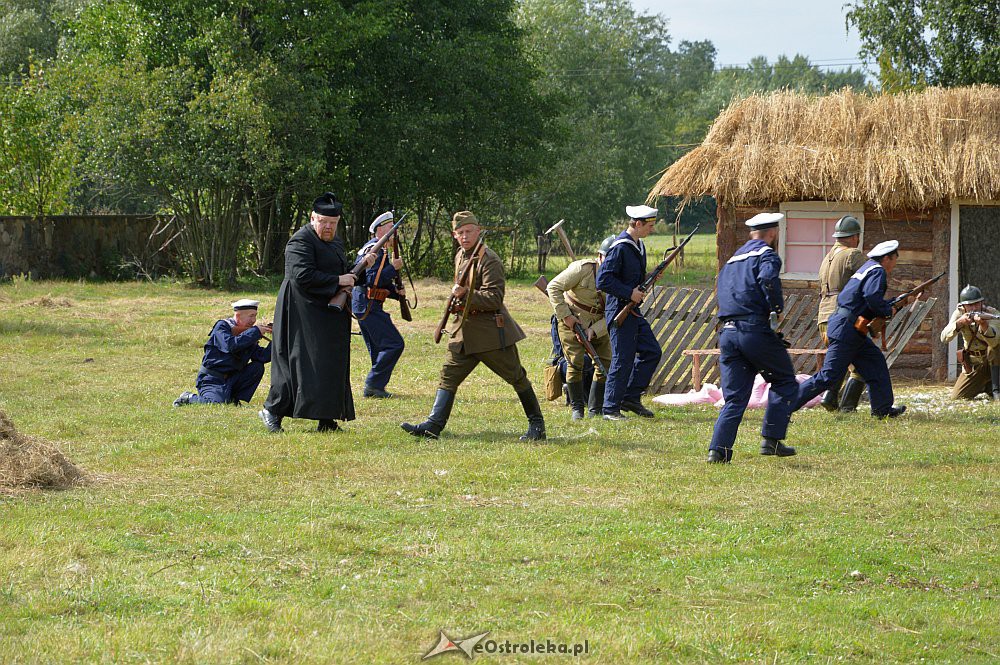
M 0 214 L 65 212 L 78 152 L 62 105 L 41 72 L 0 80 Z

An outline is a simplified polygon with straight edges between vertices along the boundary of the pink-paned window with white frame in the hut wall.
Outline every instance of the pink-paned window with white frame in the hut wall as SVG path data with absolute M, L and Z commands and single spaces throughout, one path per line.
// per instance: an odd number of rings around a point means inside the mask
M 819 265 L 836 243 L 833 227 L 844 215 L 852 215 L 861 223 L 864 240 L 864 206 L 828 201 L 782 203 L 785 215 L 778 233 L 778 254 L 786 279 L 819 279 Z

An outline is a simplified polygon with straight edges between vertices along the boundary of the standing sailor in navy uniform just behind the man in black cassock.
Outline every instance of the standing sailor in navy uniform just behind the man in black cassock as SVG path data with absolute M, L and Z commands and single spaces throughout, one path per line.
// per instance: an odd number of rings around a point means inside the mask
M 384 212 L 375 218 L 368 230 L 374 234 L 360 250 L 357 261 L 361 261 L 372 245 L 392 229 L 393 215 Z M 406 294 L 396 289 L 396 277 L 403 267 L 402 259 L 390 258 L 385 247 L 375 255 L 375 263 L 365 271 L 363 279 L 354 286 L 351 309 L 361 327 L 361 337 L 368 347 L 372 368 L 365 379 L 365 397 L 392 397 L 385 387 L 392 378 L 392 370 L 403 355 L 403 336 L 385 311 L 386 298 L 400 300 Z

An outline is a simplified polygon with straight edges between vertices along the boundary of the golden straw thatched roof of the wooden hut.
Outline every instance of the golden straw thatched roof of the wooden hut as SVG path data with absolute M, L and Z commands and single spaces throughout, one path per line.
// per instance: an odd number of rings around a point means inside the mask
M 869 96 L 754 95 L 716 119 L 650 198 L 722 204 L 830 200 L 922 210 L 1000 199 L 1000 88 Z

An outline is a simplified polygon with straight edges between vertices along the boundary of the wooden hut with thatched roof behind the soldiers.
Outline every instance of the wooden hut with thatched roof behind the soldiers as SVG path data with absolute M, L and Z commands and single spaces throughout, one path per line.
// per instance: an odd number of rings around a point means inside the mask
M 945 272 L 894 373 L 953 378 L 954 346 L 938 334 L 958 291 L 976 284 L 1000 303 L 1000 88 L 752 96 L 723 111 L 650 198 L 667 195 L 715 197 L 720 265 L 745 242 L 745 220 L 785 213 L 788 293 L 816 293 L 833 225 L 846 214 L 861 221 L 865 249 L 899 240 L 890 294 Z

